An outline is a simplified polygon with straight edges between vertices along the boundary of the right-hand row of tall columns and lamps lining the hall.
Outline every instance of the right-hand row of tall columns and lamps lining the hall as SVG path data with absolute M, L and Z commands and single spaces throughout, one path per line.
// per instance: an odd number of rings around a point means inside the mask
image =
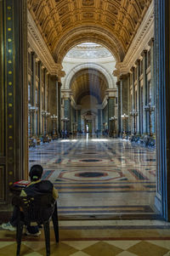
M 118 77 L 118 134 L 154 135 L 156 88 L 154 82 L 154 40 L 139 55 L 130 71 Z M 126 122 L 126 125 L 124 125 Z

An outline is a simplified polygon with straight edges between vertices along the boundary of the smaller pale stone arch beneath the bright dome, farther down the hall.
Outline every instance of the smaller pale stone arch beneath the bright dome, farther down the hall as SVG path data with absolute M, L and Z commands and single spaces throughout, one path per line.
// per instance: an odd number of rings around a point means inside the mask
M 107 81 L 108 88 L 112 88 L 113 84 L 115 84 L 113 77 L 107 71 L 102 65 L 96 64 L 96 63 L 83 63 L 75 66 L 65 77 L 65 80 L 63 82 L 63 88 L 65 89 L 70 89 L 71 88 L 71 80 L 72 77 L 75 76 L 75 74 L 78 71 L 84 70 L 84 69 L 94 69 L 97 71 L 100 71 L 104 76 Z

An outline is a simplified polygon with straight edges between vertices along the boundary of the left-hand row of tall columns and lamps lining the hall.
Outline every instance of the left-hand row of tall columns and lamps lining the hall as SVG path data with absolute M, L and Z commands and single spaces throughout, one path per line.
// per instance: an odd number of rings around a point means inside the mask
M 61 82 L 51 75 L 28 47 L 28 134 L 43 137 L 60 133 Z

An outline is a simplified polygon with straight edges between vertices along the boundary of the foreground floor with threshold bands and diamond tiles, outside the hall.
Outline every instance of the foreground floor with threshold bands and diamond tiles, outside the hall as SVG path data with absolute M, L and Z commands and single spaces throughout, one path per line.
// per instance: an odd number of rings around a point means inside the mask
M 15 255 L 14 236 L 14 231 L 0 229 L 1 256 Z M 63 220 L 59 221 L 59 243 L 54 242 L 52 227 L 50 240 L 50 255 L 167 256 L 170 255 L 170 224 L 161 220 Z M 46 255 L 43 231 L 36 238 L 23 236 L 20 255 Z

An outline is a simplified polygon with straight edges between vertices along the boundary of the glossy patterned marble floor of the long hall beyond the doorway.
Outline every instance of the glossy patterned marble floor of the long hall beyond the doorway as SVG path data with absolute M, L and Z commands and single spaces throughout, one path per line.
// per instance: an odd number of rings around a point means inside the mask
M 62 219 L 156 219 L 156 152 L 122 139 L 59 139 L 30 149 L 30 167 L 59 190 Z

